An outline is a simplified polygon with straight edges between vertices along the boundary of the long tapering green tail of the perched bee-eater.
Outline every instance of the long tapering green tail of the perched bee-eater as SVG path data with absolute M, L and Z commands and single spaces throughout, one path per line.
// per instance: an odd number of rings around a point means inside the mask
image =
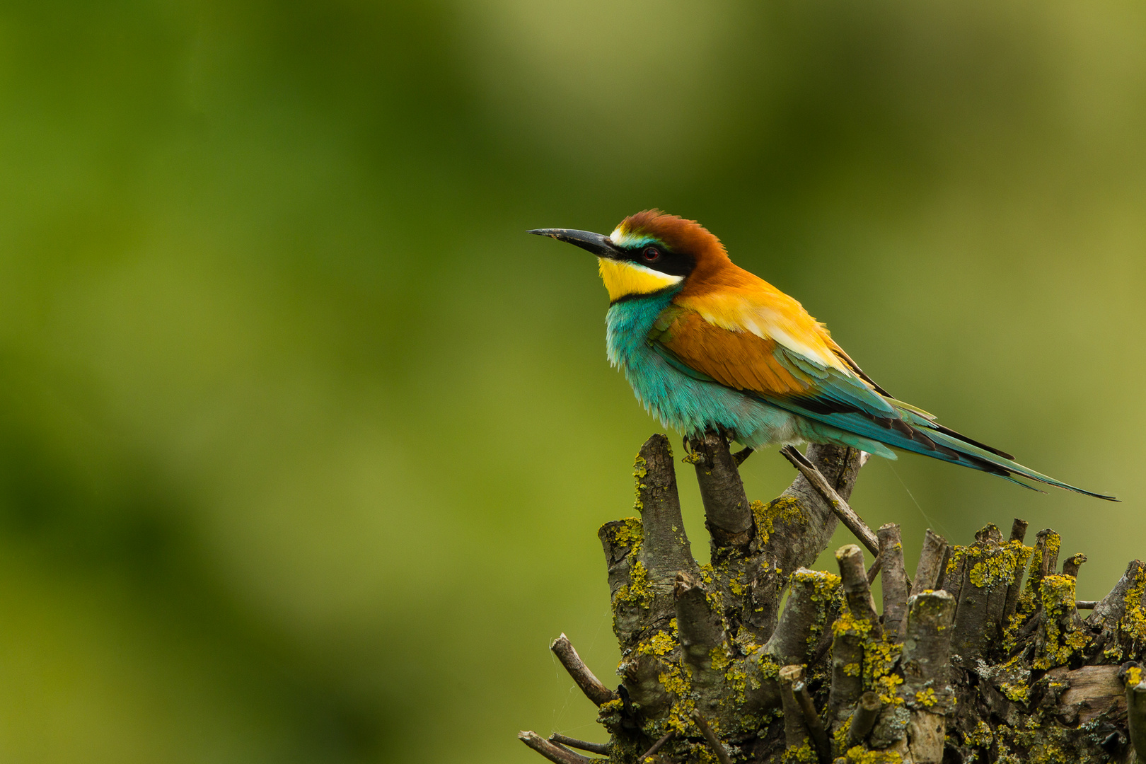
M 1042 472 L 1036 472 L 1030 467 L 1023 466 L 1015 462 L 1014 457 L 1010 454 L 971 440 L 953 430 L 944 427 L 935 422 L 935 418 L 932 415 L 923 411 L 921 409 L 917 409 L 913 405 L 895 400 L 889 400 L 888 402 L 896 409 L 896 411 L 898 411 L 905 424 L 920 431 L 920 434 L 926 436 L 923 439 L 912 438 L 908 442 L 897 442 L 895 446 L 898 448 L 915 451 L 916 454 L 923 454 L 924 456 L 929 456 L 932 458 L 942 459 L 943 462 L 960 464 L 965 467 L 972 467 L 973 470 L 982 470 L 983 472 L 999 475 L 1000 478 L 1018 483 L 1023 488 L 1030 488 L 1031 490 L 1038 489 L 1022 482 L 1021 480 L 1015 480 L 1014 476 L 1021 475 L 1047 486 L 1062 488 L 1063 490 L 1093 496 L 1094 498 L 1105 498 L 1108 502 L 1120 501 L 1114 496 L 1096 494 L 1094 491 L 1065 483 L 1061 480 L 1055 480 L 1050 475 L 1044 475 Z M 931 441 L 931 443 L 927 443 L 926 441 Z

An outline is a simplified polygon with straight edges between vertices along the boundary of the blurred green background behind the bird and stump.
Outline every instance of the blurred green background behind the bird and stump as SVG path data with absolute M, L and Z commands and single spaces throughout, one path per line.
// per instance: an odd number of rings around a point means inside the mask
M 898 397 L 1125 499 L 876 459 L 909 566 L 1015 515 L 1083 598 L 1146 554 L 1141 3 L 9 0 L 0 205 L 6 762 L 599 739 L 547 646 L 612 678 L 595 531 L 659 425 L 527 228 L 697 218 Z

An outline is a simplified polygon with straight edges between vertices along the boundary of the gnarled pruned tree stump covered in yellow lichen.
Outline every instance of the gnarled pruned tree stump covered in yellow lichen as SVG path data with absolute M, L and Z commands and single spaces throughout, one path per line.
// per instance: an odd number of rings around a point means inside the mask
M 621 684 L 565 635 L 552 644 L 611 740 L 520 733 L 549 761 L 1089 764 L 1146 746 L 1141 561 L 1102 600 L 1076 601 L 1085 556 L 1059 569 L 1058 534 L 1027 546 L 1014 520 L 1006 541 L 988 525 L 966 546 L 928 530 L 909 580 L 898 526 L 872 531 L 847 504 L 866 455 L 787 447 L 800 474 L 764 504 L 745 496 L 746 454 L 723 433 L 690 446 L 712 562 L 692 558 L 672 449 L 653 435 L 634 472 L 641 517 L 598 531 Z M 853 544 L 838 574 L 806 567 L 839 521 L 878 556 L 871 569 Z

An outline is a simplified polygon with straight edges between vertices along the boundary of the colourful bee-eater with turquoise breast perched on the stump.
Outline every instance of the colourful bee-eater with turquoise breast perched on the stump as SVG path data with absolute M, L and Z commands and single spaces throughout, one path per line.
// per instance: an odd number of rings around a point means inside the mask
M 597 255 L 609 290 L 609 360 L 666 426 L 694 438 L 724 430 L 756 449 L 849 446 L 889 459 L 890 448 L 1078 494 L 1117 501 L 1035 472 L 895 400 L 859 369 L 796 300 L 732 263 L 694 220 L 646 210 L 603 236 L 528 231 Z

